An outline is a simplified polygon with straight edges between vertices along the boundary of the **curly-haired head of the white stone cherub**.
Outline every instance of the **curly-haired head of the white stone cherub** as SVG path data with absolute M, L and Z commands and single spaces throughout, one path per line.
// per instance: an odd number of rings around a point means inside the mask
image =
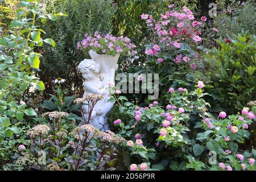
M 82 77 L 84 77 L 85 80 L 97 77 L 97 74 L 100 72 L 100 65 L 92 59 L 82 60 L 77 68 L 82 73 Z

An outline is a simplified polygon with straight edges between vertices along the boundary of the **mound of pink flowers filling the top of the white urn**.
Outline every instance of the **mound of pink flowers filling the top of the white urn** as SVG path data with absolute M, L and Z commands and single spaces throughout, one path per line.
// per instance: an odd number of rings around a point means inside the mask
M 84 35 L 85 38 L 77 43 L 77 49 L 93 49 L 98 53 L 116 54 L 116 53 L 137 53 L 134 48 L 136 47 L 131 40 L 127 37 L 115 37 L 111 34 L 101 35 L 99 32 L 94 32 L 93 36 L 88 34 Z

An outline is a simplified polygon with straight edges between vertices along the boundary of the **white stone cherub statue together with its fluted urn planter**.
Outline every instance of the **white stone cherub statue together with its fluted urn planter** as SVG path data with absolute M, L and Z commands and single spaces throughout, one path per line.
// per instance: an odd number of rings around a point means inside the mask
M 84 118 L 90 125 L 101 131 L 106 131 L 109 129 L 106 116 L 114 105 L 114 102 L 108 102 L 110 99 L 108 83 L 115 80 L 115 69 L 120 55 L 100 55 L 93 50 L 89 51 L 89 55 L 92 59 L 84 59 L 78 66 L 85 79 L 83 97 L 88 93 L 93 93 L 100 94 L 104 98 L 93 107 L 89 121 L 88 106 L 83 106 Z

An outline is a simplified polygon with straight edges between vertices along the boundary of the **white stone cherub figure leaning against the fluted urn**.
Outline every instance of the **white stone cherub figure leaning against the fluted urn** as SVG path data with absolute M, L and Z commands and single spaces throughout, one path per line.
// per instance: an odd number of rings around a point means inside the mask
M 101 131 L 108 130 L 108 124 L 106 123 L 106 114 L 112 108 L 113 104 L 108 102 L 109 94 L 106 90 L 108 87 L 104 86 L 100 75 L 100 65 L 93 59 L 84 59 L 77 67 L 84 77 L 84 95 L 88 93 L 100 94 L 103 96 L 103 100 L 98 101 L 93 107 L 92 115 L 90 117 L 89 124 L 93 125 Z M 110 107 L 110 108 L 109 108 Z M 83 106 L 85 118 L 88 119 L 88 106 Z

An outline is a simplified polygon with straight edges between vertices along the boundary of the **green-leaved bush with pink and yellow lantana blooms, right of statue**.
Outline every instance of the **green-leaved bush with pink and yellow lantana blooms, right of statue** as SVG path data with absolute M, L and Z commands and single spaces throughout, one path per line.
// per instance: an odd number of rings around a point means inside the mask
M 185 88 L 170 88 L 166 107 L 159 106 L 156 101 L 139 107 L 123 103 L 126 100 L 123 96 L 113 95 L 119 101 L 119 110 L 133 117 L 128 121 L 114 121 L 119 134 L 129 140 L 127 152 L 133 158 L 127 164 L 149 162 L 151 169 L 222 170 L 224 167 L 222 164 L 218 167 L 218 163 L 224 163 L 225 170 L 254 170 L 255 150 L 253 154 L 245 152 L 246 160 L 241 160 L 241 155 L 237 154 L 238 144 L 249 138 L 247 129 L 255 113 L 245 107 L 236 115 L 221 111 L 215 118 L 208 112 L 210 105 L 203 99 L 208 94 L 203 92 L 204 83 L 198 81 L 195 87 L 191 92 Z M 213 153 L 216 162 L 208 163 Z M 132 165 L 131 170 L 138 169 Z

